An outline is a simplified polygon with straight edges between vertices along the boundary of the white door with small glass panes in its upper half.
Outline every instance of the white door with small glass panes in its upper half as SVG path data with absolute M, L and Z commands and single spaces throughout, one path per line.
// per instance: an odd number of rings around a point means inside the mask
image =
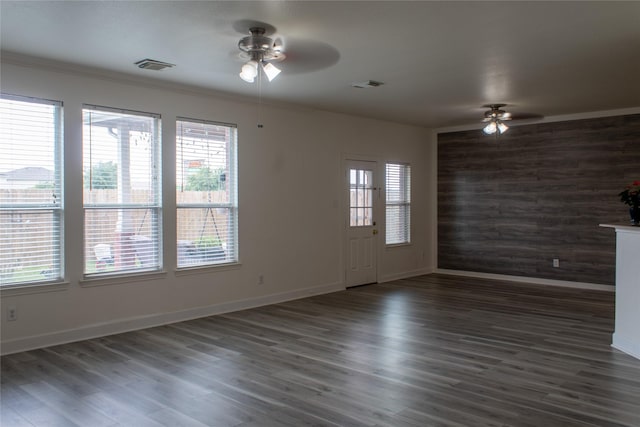
M 376 186 L 376 162 L 348 160 L 346 286 L 376 283 L 378 228 L 376 211 L 379 189 Z

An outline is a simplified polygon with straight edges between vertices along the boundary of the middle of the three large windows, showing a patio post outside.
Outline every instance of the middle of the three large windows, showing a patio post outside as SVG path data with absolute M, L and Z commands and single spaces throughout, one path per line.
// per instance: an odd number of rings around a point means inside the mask
M 85 276 L 161 269 L 160 117 L 82 115 Z

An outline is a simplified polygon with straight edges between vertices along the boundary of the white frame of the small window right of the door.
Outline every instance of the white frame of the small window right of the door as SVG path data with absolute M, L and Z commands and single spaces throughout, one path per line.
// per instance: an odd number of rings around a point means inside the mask
M 389 196 L 392 192 L 390 188 L 394 183 L 390 182 L 389 167 L 397 167 L 399 169 L 399 179 L 397 193 L 399 197 L 397 200 L 390 200 Z M 411 164 L 405 162 L 386 162 L 385 163 L 385 246 L 406 246 L 411 244 Z M 402 223 L 402 229 L 404 230 L 404 238 L 399 240 L 389 239 L 389 230 L 394 228 L 390 224 L 389 208 L 399 207 L 404 210 L 404 218 L 398 223 Z

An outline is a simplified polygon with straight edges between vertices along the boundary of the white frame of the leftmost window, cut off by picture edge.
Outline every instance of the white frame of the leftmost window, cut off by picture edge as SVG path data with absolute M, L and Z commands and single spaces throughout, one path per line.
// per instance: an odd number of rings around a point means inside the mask
M 53 138 L 53 192 L 51 202 L 46 203 L 39 201 L 36 203 L 16 203 L 5 204 L 0 206 L 0 212 L 8 212 L 11 215 L 23 213 L 26 215 L 37 215 L 38 213 L 50 212 L 52 215 L 52 232 L 53 237 L 49 240 L 51 244 L 51 256 L 53 258 L 50 266 L 51 268 L 40 272 L 41 275 L 45 274 L 42 278 L 34 280 L 13 281 L 4 283 L 3 278 L 0 277 L 0 288 L 3 290 L 33 287 L 40 284 L 51 285 L 61 283 L 65 277 L 65 252 L 64 252 L 64 210 L 65 210 L 65 198 L 64 198 L 64 134 L 63 134 L 63 103 L 62 101 L 50 100 L 44 98 L 36 98 L 23 95 L 14 95 L 9 93 L 0 93 L 0 99 L 17 101 L 23 103 L 50 105 L 53 107 L 51 119 L 53 125 L 53 134 L 49 134 L 49 137 Z M 14 141 L 11 141 L 13 144 Z M 13 162 L 12 162 L 13 163 Z M 53 274 L 53 275 L 52 275 Z M 48 275 L 48 276 L 47 276 Z

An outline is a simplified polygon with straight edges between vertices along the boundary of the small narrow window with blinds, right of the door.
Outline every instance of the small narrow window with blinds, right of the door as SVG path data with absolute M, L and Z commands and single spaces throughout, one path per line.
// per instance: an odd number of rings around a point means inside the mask
M 386 244 L 411 241 L 411 166 L 386 165 Z

